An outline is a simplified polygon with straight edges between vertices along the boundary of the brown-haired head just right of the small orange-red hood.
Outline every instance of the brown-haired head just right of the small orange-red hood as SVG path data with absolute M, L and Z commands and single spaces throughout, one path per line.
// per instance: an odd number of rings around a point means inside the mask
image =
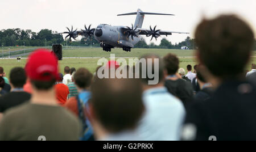
M 74 75 L 74 81 L 77 87 L 85 89 L 90 87 L 93 75 L 85 68 L 80 68 Z

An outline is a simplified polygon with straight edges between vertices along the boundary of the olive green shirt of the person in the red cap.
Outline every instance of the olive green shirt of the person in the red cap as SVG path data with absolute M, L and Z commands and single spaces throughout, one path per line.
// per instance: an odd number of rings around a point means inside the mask
M 24 103 L 10 109 L 0 121 L 0 141 L 75 141 L 80 137 L 79 120 L 60 106 Z

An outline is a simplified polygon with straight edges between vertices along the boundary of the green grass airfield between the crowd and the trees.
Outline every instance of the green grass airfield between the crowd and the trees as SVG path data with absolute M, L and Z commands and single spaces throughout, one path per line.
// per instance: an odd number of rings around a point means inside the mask
M 180 57 L 180 67 L 185 67 L 188 64 L 195 65 L 196 60 L 192 56 L 194 55 L 193 50 L 171 50 L 171 49 L 133 49 L 132 52 L 125 52 L 122 49 L 113 49 L 112 54 L 115 54 L 116 59 L 118 57 L 141 57 L 143 54 L 154 53 L 159 56 L 164 56 L 167 53 L 174 53 Z M 256 52 L 253 52 L 253 56 L 256 56 Z M 105 57 L 109 58 L 110 53 L 104 52 L 101 48 L 84 48 L 84 49 L 73 49 L 73 50 L 63 50 L 63 57 Z M 128 60 L 128 59 L 126 59 Z M 63 61 L 59 61 L 60 72 L 63 73 L 65 66 L 69 67 L 86 67 L 92 73 L 95 72 L 98 58 L 64 58 Z M 256 63 L 256 57 L 253 57 L 251 63 Z M 9 77 L 10 70 L 13 67 L 21 66 L 24 67 L 26 60 L 23 59 L 21 62 L 15 59 L 0 59 L 0 66 L 4 67 L 6 76 Z M 217 61 L 216 61 L 216 64 Z M 246 69 L 250 69 L 248 65 Z

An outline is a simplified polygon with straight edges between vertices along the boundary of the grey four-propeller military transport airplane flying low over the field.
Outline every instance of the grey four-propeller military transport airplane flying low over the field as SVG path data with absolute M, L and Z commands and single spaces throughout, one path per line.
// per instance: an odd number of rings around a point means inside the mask
M 143 12 L 141 9 L 138 9 L 137 12 L 130 12 L 126 14 L 119 14 L 117 16 L 124 16 L 124 15 L 137 15 L 134 26 L 131 24 L 131 27 L 126 26 L 110 26 L 108 24 L 100 24 L 97 28 L 90 28 L 91 25 L 87 28 L 85 25 L 85 30 L 81 29 L 81 31 L 73 31 L 73 26 L 71 30 L 67 27 L 68 32 L 63 32 L 68 34 L 69 40 L 72 39 L 76 40 L 76 38 L 81 35 L 84 36 L 86 39 L 87 37 L 94 36 L 97 41 L 100 42 L 100 46 L 106 52 L 111 52 L 112 48 L 123 48 L 126 52 L 131 52 L 131 48 L 134 48 L 134 45 L 137 44 L 139 41 L 142 40 L 141 35 L 146 35 L 147 37 L 152 36 L 151 40 L 155 37 L 157 38 L 160 35 L 172 35 L 172 33 L 184 33 L 188 34 L 187 32 L 175 32 L 175 31 L 162 31 L 160 29 L 156 29 L 156 26 L 150 29 L 142 28 L 144 15 L 173 15 L 173 14 L 160 14 L 154 12 Z M 62 34 L 62 33 L 61 33 Z M 72 38 L 72 39 L 71 39 Z

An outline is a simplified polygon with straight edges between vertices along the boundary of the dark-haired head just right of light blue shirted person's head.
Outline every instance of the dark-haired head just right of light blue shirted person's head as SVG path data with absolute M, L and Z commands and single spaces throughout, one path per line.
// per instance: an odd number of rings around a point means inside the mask
M 163 61 L 168 75 L 173 75 L 177 73 L 180 63 L 179 58 L 177 58 L 176 55 L 169 53 L 166 56 L 164 56 Z

